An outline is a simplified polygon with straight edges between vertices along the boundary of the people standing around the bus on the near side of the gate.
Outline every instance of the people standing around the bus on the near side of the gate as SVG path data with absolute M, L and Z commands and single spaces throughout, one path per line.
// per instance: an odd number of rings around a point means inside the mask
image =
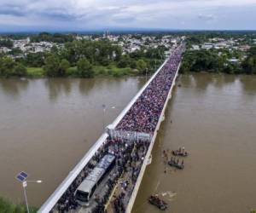
M 140 145 L 137 145 L 140 144 Z M 103 146 L 97 151 L 97 153 L 91 158 L 90 162 L 84 167 L 77 176 L 77 178 L 73 181 L 70 187 L 67 188 L 67 191 L 61 196 L 61 199 L 55 204 L 52 212 L 57 210 L 58 212 L 64 213 L 69 212 L 71 210 L 76 210 L 79 206 L 77 200 L 74 196 L 76 189 L 79 187 L 81 182 L 84 180 L 86 176 L 89 175 L 90 171 L 93 170 L 97 163 L 100 162 L 101 158 L 107 153 L 111 153 L 115 156 L 115 167 L 113 171 L 108 176 L 107 181 L 107 190 L 105 193 L 101 193 L 100 195 L 95 196 L 96 206 L 91 209 L 91 213 L 101 213 L 105 210 L 105 204 L 108 202 L 109 195 L 112 193 L 113 187 L 117 184 L 119 177 L 121 174 L 128 169 L 131 169 L 133 172 L 133 176 L 137 176 L 137 168 L 133 168 L 131 164 L 134 160 L 138 158 L 139 153 L 137 149 L 141 149 L 142 146 L 147 146 L 145 142 L 138 141 L 134 143 L 134 141 L 128 141 L 123 139 L 111 139 L 108 137 L 108 140 L 105 141 Z M 147 150 L 147 147 L 144 147 L 143 150 Z M 136 180 L 136 178 L 134 178 Z M 127 184 L 127 182 L 126 182 Z M 119 202 L 121 202 L 121 198 Z

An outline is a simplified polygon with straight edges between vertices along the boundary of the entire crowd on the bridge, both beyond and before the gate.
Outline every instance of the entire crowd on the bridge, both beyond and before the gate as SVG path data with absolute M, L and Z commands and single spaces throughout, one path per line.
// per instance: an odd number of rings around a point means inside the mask
M 148 87 L 144 89 L 143 94 L 137 98 L 137 101 L 119 122 L 116 130 L 143 132 L 153 135 L 172 86 L 173 78 L 177 72 L 177 67 L 181 61 L 182 52 L 183 45 L 173 51 L 160 72 L 157 73 L 151 83 L 148 84 Z M 129 141 L 126 138 L 111 138 L 108 136 L 102 147 L 97 150 L 90 162 L 79 173 L 79 176 L 63 193 L 52 212 L 65 213 L 78 208 L 79 204 L 74 194 L 76 189 L 84 181 L 84 178 L 90 174 L 90 171 L 96 167 L 101 158 L 108 153 L 115 156 L 116 164 L 108 177 L 106 193 L 95 197 L 96 206 L 92 208 L 91 213 L 105 212 L 105 204 L 108 202 L 113 187 L 117 184 L 119 177 L 126 173 L 122 192 L 113 200 L 113 210 L 116 213 L 124 212 L 125 204 L 129 200 L 127 196 L 131 196 L 137 176 L 143 165 L 143 160 L 148 152 L 149 142 Z

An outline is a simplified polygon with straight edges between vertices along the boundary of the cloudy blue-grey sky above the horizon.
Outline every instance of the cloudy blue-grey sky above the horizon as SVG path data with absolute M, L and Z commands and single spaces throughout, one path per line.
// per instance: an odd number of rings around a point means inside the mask
M 256 30 L 256 0 L 0 0 L 0 31 Z

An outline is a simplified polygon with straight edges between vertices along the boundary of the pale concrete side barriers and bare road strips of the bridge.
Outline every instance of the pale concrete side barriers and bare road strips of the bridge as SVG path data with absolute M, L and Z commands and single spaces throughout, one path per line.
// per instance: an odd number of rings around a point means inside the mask
M 181 47 L 183 48 L 183 47 Z M 170 60 L 172 55 L 165 60 L 165 62 L 160 66 L 160 68 L 157 70 L 157 72 L 154 73 L 154 75 L 148 80 L 148 83 L 146 83 L 142 89 L 137 93 L 137 95 L 131 100 L 131 102 L 125 107 L 125 109 L 119 114 L 119 116 L 113 121 L 112 128 L 116 128 L 120 121 L 125 117 L 126 113 L 129 112 L 131 107 L 134 105 L 134 103 L 137 101 L 137 99 L 143 94 L 143 91 L 147 89 L 148 85 L 153 82 L 154 78 L 159 74 L 159 72 L 163 69 L 164 66 L 166 66 L 167 62 Z M 180 66 L 180 61 L 177 66 L 177 70 L 175 71 L 175 75 L 172 79 L 172 85 L 168 91 L 168 95 L 166 97 L 165 104 L 161 110 L 160 118 L 158 119 L 156 128 L 154 129 L 154 134 L 152 135 L 151 141 L 149 143 L 147 152 L 141 155 L 143 158 L 143 163 L 140 165 L 139 174 L 137 176 L 137 181 L 135 184 L 131 184 L 129 187 L 127 187 L 127 194 L 129 196 L 126 197 L 124 200 L 125 202 L 125 212 L 131 212 L 132 206 L 134 204 L 134 201 L 137 196 L 137 191 L 140 186 L 140 183 L 143 179 L 143 174 L 146 169 L 146 166 L 148 164 L 148 160 L 151 155 L 152 148 L 154 147 L 154 140 L 157 135 L 157 131 L 160 129 L 160 123 L 164 119 L 164 113 L 166 110 L 166 105 L 168 100 L 172 96 L 172 88 L 175 84 L 175 80 L 177 78 L 178 69 Z M 90 148 L 89 152 L 84 155 L 84 158 L 82 158 L 72 171 L 69 172 L 67 178 L 61 182 L 61 185 L 55 189 L 55 192 L 49 197 L 49 199 L 46 200 L 46 202 L 41 206 L 41 208 L 38 210 L 38 212 L 50 212 L 50 211 L 56 211 L 55 204 L 61 199 L 61 196 L 66 193 L 67 189 L 70 187 L 70 185 L 73 183 L 73 181 L 76 180 L 77 176 L 81 173 L 82 170 L 84 170 L 84 167 L 90 162 L 90 159 L 95 156 L 97 151 L 103 146 L 104 142 L 107 140 L 108 134 L 103 133 L 102 136 L 96 141 L 96 143 L 93 145 L 93 147 Z M 136 163 L 139 164 L 139 163 Z M 121 187 L 121 183 L 124 181 L 131 181 L 131 171 L 125 172 L 125 174 L 122 174 L 120 176 L 119 181 L 117 185 L 113 188 L 112 193 L 110 194 L 110 198 L 108 199 L 107 204 L 105 205 L 105 209 L 107 212 L 114 212 L 113 211 L 113 200 L 116 196 L 119 195 L 120 192 L 123 191 Z M 104 182 L 104 181 L 103 181 Z M 102 187 L 103 188 L 103 187 Z M 98 189 L 99 190 L 99 189 Z M 72 210 L 71 212 L 89 212 L 88 210 L 85 210 L 85 208 L 78 208 L 77 210 Z

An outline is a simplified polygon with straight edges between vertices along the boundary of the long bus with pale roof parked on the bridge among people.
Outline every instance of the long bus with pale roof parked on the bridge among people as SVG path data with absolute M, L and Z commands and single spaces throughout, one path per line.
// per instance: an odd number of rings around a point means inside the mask
M 91 170 L 75 191 L 75 198 L 79 204 L 88 206 L 90 198 L 93 196 L 96 188 L 101 184 L 102 180 L 113 169 L 115 157 L 112 154 L 106 154 L 96 167 Z

